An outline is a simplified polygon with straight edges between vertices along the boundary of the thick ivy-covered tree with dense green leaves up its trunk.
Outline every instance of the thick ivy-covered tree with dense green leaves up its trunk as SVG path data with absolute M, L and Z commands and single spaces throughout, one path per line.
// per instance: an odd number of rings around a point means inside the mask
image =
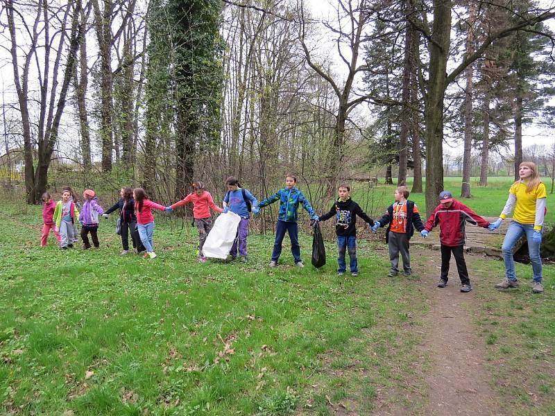
M 164 137 L 170 145 L 162 148 L 174 155 L 176 198 L 187 193 L 194 179 L 196 155 L 219 138 L 221 4 L 170 0 L 151 6 L 145 182 L 160 153 L 157 137 Z

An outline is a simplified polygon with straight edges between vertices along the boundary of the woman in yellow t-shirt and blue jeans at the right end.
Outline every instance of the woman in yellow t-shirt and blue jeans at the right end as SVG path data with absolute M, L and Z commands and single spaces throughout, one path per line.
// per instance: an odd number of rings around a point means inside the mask
M 501 225 L 514 209 L 513 220 L 503 241 L 503 259 L 505 261 L 506 277 L 497 289 L 515 288 L 518 280 L 515 272 L 513 248 L 522 234 L 526 234 L 528 252 L 533 271 L 533 293 L 543 293 L 542 284 L 542 259 L 540 257 L 540 244 L 542 242 L 543 217 L 545 216 L 545 198 L 547 193 L 545 185 L 540 182 L 540 174 L 536 164 L 522 162 L 518 167 L 520 180 L 516 181 L 509 189 L 509 199 L 499 219 L 489 226 L 490 230 Z

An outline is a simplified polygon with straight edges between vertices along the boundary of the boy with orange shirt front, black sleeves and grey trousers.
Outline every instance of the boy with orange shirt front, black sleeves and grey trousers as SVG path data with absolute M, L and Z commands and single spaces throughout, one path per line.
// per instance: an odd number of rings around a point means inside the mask
M 386 231 L 386 243 L 389 245 L 389 259 L 391 260 L 391 271 L 389 276 L 395 277 L 399 273 L 399 253 L 403 258 L 403 276 L 411 275 L 411 256 L 409 254 L 409 240 L 414 234 L 414 228 L 418 231 L 424 229 L 424 224 L 420 220 L 418 207 L 409 198 L 407 187 L 395 189 L 395 203 L 389 205 L 382 218 L 374 223 L 372 231 L 379 227 L 388 225 Z

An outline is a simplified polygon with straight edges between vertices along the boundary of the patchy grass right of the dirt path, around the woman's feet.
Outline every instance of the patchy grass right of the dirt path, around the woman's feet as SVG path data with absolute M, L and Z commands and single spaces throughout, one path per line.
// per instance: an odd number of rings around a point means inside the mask
M 502 261 L 475 263 L 491 287 L 504 275 Z M 516 263 L 520 288 L 477 291 L 469 306 L 488 352 L 488 370 L 503 397 L 503 414 L 555 415 L 555 267 L 544 266 L 545 293 L 531 293 L 531 266 Z

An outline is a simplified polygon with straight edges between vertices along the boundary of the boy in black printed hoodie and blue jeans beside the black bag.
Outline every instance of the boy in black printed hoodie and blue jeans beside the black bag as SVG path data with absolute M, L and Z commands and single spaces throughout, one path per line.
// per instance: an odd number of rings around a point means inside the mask
M 370 224 L 374 225 L 374 220 L 364 214 L 357 202 L 350 198 L 350 187 L 346 184 L 339 185 L 339 199 L 334 202 L 330 212 L 323 214 L 318 220 L 325 221 L 335 216 L 335 233 L 337 234 L 337 246 L 339 248 L 339 257 L 337 263 L 338 275 L 343 275 L 347 268 L 345 264 L 345 251 L 349 251 L 351 276 L 359 275 L 357 262 L 357 215 Z

